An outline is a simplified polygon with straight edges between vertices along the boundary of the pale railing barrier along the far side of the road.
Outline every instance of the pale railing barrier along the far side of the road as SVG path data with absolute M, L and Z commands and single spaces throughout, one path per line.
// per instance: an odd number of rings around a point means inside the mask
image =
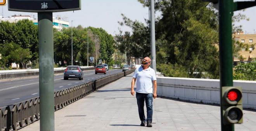
M 94 67 L 87 67 L 82 68 L 84 71 L 86 70 L 93 70 Z M 57 69 L 54 70 L 54 74 L 61 74 L 65 71 L 65 69 Z M 0 73 L 0 80 L 3 79 L 15 79 L 15 78 L 22 78 L 22 77 L 32 77 L 32 76 L 39 76 L 39 71 L 22 71 L 22 72 L 5 72 Z

